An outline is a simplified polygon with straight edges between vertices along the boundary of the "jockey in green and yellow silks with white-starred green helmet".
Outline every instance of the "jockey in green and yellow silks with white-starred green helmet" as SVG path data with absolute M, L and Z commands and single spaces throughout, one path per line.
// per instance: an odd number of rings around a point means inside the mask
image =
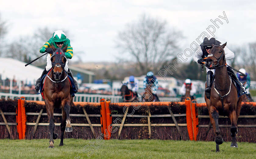
M 62 31 L 62 30 L 57 30 L 53 33 L 52 37 L 40 48 L 40 53 L 45 53 L 48 52 L 49 54 L 46 57 L 46 67 L 44 68 L 44 71 L 41 75 L 40 78 L 37 79 L 36 81 L 36 85 L 35 85 L 35 90 L 38 92 L 40 90 L 40 81 L 42 79 L 42 77 L 44 76 L 44 74 L 52 68 L 52 62 L 51 62 L 51 56 L 53 53 L 52 50 L 52 45 L 55 48 L 64 48 L 67 45 L 67 49 L 65 52 L 67 61 L 66 61 L 66 65 L 64 67 L 65 71 L 68 73 L 69 76 L 71 76 L 71 78 L 73 79 L 73 82 L 76 86 L 76 92 L 78 91 L 78 84 L 76 82 L 76 80 L 74 79 L 71 71 L 68 68 L 68 59 L 71 59 L 73 57 L 73 48 L 70 46 L 70 40 L 68 38 L 66 38 L 66 34 Z

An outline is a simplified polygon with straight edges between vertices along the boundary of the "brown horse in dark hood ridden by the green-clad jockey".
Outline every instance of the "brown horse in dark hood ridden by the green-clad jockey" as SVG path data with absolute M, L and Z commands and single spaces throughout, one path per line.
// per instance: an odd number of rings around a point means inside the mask
M 63 136 L 64 130 L 66 132 L 72 132 L 72 126 L 70 125 L 69 111 L 70 106 L 73 103 L 73 97 L 70 96 L 70 84 L 67 77 L 67 73 L 64 70 L 66 64 L 65 51 L 66 48 L 55 48 L 52 45 L 54 53 L 52 54 L 52 69 L 47 74 L 44 82 L 44 90 L 42 91 L 44 95 L 44 102 L 46 106 L 47 116 L 49 119 L 49 131 L 50 131 L 50 146 L 53 148 L 53 143 L 58 134 L 54 133 L 54 117 L 53 110 L 62 108 L 62 122 L 61 127 L 61 140 L 59 146 L 63 146 Z

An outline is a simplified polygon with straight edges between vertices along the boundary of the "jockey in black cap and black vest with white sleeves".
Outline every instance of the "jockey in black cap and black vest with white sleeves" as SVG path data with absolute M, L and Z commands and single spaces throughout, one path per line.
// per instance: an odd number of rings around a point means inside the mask
M 204 62 L 204 58 L 206 58 L 209 55 L 209 51 L 210 51 L 210 49 L 212 49 L 212 44 L 222 45 L 221 42 L 217 41 L 214 37 L 212 37 L 210 40 L 208 40 L 208 38 L 205 37 L 203 43 L 200 44 L 200 47 L 201 47 L 200 51 L 195 52 L 193 55 L 194 61 L 199 64 L 203 64 L 202 62 Z M 226 63 L 227 63 L 227 65 L 229 65 L 227 60 L 231 60 L 231 59 L 235 58 L 235 55 L 227 47 L 224 48 L 224 52 L 225 52 Z M 206 97 L 208 99 L 210 99 L 210 93 L 211 93 L 210 85 L 212 83 L 213 75 L 215 74 L 215 69 L 208 69 L 207 67 L 205 67 L 205 68 L 206 68 L 206 72 L 207 72 L 207 79 L 206 79 L 207 87 L 205 88 L 205 93 L 206 93 Z M 237 83 L 239 83 L 240 88 L 241 88 L 239 94 L 243 94 L 244 87 L 243 87 L 242 83 L 239 81 L 239 79 L 237 78 L 234 70 L 229 66 L 227 66 L 227 70 L 228 70 L 228 72 L 232 73 L 234 75 L 234 77 L 236 77 L 236 81 L 237 81 Z

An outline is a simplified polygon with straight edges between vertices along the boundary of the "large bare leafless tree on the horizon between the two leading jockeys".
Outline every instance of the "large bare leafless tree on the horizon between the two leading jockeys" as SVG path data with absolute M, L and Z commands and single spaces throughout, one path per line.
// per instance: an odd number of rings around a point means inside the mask
M 179 51 L 177 42 L 183 37 L 178 31 L 167 29 L 167 23 L 143 14 L 140 19 L 119 32 L 117 47 L 137 62 L 140 72 L 158 72 L 162 64 Z

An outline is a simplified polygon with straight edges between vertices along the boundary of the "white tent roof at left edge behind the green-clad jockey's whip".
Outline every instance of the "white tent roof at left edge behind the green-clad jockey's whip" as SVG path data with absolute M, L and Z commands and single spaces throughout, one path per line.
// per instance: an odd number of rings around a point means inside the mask
M 35 80 L 41 76 L 43 69 L 31 64 L 26 67 L 25 65 L 26 63 L 12 58 L 0 58 L 0 74 L 2 80 L 8 78 L 23 81 L 27 84 L 34 84 Z

